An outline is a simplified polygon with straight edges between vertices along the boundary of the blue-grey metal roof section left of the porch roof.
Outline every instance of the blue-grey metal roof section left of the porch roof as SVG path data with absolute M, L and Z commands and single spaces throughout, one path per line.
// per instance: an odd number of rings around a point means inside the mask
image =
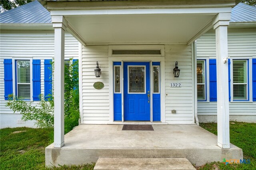
M 0 13 L 0 23 L 51 23 L 51 15 L 38 1 Z

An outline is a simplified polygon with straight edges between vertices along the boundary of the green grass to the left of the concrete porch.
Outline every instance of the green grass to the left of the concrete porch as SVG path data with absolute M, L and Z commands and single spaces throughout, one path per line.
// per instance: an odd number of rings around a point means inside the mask
M 0 169 L 93 170 L 95 164 L 45 168 L 44 148 L 53 141 L 53 129 L 0 129 Z

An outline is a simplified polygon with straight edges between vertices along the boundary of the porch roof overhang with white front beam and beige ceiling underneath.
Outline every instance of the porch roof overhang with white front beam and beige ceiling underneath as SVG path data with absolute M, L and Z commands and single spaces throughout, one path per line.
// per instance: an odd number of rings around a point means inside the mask
M 84 45 L 190 44 L 212 28 L 214 16 L 230 13 L 236 4 L 235 0 L 39 1 L 52 16 L 64 16 L 68 31 Z

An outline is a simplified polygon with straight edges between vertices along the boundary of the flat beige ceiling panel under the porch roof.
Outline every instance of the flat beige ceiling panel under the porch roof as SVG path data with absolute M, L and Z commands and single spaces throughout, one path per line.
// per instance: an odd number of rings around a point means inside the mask
M 118 14 L 65 16 L 90 44 L 188 43 L 216 14 Z

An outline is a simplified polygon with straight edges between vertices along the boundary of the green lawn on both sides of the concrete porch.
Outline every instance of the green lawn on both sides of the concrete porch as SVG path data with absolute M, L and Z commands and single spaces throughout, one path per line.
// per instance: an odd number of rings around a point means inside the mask
M 216 123 L 201 123 L 201 127 L 217 134 Z M 0 129 L 0 169 L 47 169 L 44 164 L 44 148 L 52 143 L 52 129 L 4 128 Z M 244 159 L 250 164 L 228 164 L 211 162 L 200 170 L 256 170 L 256 124 L 230 123 L 230 142 L 243 149 Z M 94 164 L 62 166 L 62 170 L 92 170 Z

